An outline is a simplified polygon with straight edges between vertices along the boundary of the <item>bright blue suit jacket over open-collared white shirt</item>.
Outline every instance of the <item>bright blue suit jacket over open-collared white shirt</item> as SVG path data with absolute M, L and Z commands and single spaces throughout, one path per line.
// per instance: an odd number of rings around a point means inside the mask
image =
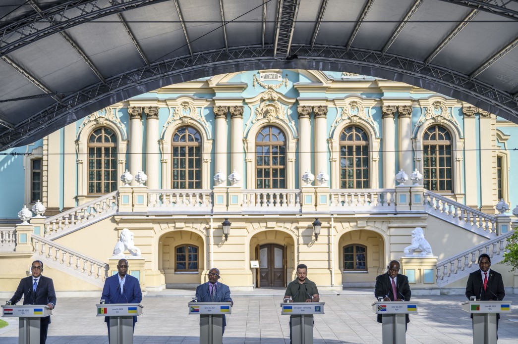
M 103 296 L 101 300 L 106 300 L 107 304 L 112 303 L 140 303 L 142 301 L 142 291 L 137 278 L 126 274 L 124 289 L 121 291 L 119 285 L 119 274 L 108 277 L 104 281 Z M 109 317 L 104 321 L 108 322 Z M 137 317 L 133 317 L 133 322 L 137 322 Z

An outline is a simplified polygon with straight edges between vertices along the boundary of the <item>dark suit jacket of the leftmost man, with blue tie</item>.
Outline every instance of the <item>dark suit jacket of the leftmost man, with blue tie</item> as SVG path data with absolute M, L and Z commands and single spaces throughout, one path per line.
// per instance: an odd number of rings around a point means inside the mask
M 28 276 L 20 280 L 20 284 L 16 289 L 15 295 L 11 297 L 11 303 L 16 305 L 23 295 L 24 305 L 48 305 L 49 303 L 56 305 L 56 292 L 54 291 L 54 283 L 52 278 L 40 275 L 36 292 L 33 291 L 34 277 Z M 42 323 L 50 323 L 50 316 L 41 318 Z

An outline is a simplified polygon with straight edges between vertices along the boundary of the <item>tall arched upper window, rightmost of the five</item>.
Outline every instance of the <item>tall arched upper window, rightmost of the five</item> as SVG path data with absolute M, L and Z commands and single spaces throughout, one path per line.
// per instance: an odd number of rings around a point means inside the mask
M 452 139 L 448 129 L 435 125 L 423 136 L 423 181 L 431 191 L 452 191 Z

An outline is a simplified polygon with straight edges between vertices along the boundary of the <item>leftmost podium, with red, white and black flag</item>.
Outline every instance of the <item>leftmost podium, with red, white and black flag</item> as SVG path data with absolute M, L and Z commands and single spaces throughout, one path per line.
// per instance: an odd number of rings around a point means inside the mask
M 47 305 L 2 305 L 2 317 L 19 318 L 19 344 L 39 344 L 41 318 L 50 315 L 52 311 Z

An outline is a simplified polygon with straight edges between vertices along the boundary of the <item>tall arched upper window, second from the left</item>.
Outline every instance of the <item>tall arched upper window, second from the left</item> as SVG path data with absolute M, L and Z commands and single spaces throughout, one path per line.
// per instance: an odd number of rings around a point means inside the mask
M 172 136 L 172 188 L 202 187 L 202 137 L 193 127 L 181 127 Z

